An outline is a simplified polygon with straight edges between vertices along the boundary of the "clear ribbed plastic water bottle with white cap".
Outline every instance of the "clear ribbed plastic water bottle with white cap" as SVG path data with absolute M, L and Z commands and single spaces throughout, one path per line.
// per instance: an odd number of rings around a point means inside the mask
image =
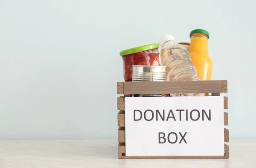
M 166 81 L 200 81 L 188 51 L 176 43 L 172 35 L 159 40 L 160 65 L 167 67 Z M 175 93 L 172 96 L 203 96 L 202 93 Z

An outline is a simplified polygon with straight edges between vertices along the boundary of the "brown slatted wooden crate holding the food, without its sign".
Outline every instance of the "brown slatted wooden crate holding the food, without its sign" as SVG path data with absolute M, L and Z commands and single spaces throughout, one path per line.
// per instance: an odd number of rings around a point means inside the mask
M 118 118 L 118 158 L 119 159 L 228 159 L 229 130 L 224 128 L 224 156 L 125 156 L 125 97 L 131 94 L 159 93 L 212 93 L 220 96 L 227 92 L 227 81 L 151 81 L 151 82 L 117 82 Z M 224 97 L 224 109 L 227 109 L 227 97 Z M 224 112 L 224 126 L 228 125 L 228 113 Z

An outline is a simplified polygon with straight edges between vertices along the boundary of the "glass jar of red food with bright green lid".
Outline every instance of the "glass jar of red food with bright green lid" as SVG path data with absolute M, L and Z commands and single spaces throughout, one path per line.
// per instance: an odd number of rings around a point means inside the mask
M 159 45 L 157 43 L 143 45 L 128 50 L 122 50 L 120 56 L 123 60 L 123 72 L 125 81 L 132 81 L 132 66 L 133 65 L 152 65 L 160 66 L 159 64 Z

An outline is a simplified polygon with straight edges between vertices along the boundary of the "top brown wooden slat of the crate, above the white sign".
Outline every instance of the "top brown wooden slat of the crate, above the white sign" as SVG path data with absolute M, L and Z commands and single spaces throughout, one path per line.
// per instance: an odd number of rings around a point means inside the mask
M 117 82 L 117 94 L 227 92 L 227 81 Z

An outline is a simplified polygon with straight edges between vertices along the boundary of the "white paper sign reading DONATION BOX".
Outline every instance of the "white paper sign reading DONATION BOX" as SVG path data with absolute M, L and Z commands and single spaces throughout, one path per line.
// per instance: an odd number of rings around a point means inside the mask
M 222 96 L 126 97 L 126 156 L 224 156 Z

